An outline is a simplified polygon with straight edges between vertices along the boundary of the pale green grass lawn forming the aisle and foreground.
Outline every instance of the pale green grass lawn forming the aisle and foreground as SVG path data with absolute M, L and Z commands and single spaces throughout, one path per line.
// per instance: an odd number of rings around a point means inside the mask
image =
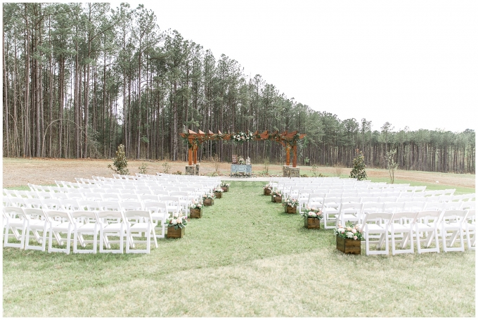
M 228 193 L 150 255 L 3 250 L 4 316 L 474 316 L 474 251 L 344 255 L 332 230 Z

